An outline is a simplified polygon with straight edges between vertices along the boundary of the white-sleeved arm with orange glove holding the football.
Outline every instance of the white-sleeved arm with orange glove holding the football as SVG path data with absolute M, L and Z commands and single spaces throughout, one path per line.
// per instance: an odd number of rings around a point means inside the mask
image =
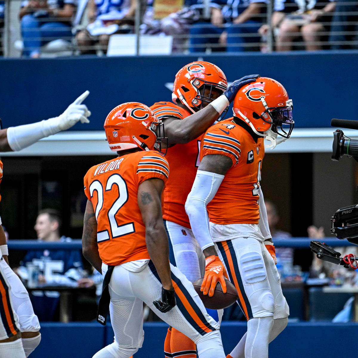
M 219 154 L 205 155 L 200 162 L 191 192 L 185 203 L 193 233 L 205 256 L 205 276 L 201 286 L 204 295 L 213 296 L 217 282 L 226 292 L 224 276 L 227 276 L 220 261 L 209 229 L 206 206 L 214 198 L 224 175 L 231 168 L 232 160 Z

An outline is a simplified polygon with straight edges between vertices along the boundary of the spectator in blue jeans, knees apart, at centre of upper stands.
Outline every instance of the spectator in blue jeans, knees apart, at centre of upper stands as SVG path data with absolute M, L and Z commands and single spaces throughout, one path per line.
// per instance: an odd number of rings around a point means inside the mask
M 190 29 L 190 52 L 205 52 L 226 46 L 228 52 L 242 52 L 258 49 L 258 29 L 266 13 L 267 0 L 214 0 L 223 6 L 212 7 L 211 20 L 200 22 Z M 245 46 L 253 44 L 254 47 Z M 255 46 L 255 44 L 257 44 Z

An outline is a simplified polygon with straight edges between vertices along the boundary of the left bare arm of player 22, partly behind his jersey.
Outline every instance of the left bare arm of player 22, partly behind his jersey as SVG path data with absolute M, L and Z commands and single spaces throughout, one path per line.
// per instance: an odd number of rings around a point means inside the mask
M 82 253 L 84 258 L 102 274 L 102 260 L 97 245 L 97 220 L 92 203 L 87 200 L 83 219 Z

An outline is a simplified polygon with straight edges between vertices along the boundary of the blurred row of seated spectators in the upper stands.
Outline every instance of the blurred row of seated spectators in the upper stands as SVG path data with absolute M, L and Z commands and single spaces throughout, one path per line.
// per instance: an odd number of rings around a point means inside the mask
M 50 43 L 58 52 L 101 55 L 112 35 L 138 31 L 158 36 L 158 46 L 160 37 L 170 36 L 171 52 L 356 48 L 357 5 L 351 0 L 26 0 L 18 13 L 22 39 L 15 47 L 32 58 Z M 3 26 L 0 0 L 0 48 Z

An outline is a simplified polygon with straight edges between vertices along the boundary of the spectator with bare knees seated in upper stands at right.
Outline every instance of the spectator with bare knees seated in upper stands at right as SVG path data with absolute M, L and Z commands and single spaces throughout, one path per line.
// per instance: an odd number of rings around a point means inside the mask
M 323 32 L 329 32 L 334 0 L 275 0 L 272 27 L 278 28 L 277 51 L 289 51 L 292 42 L 302 38 L 306 50 L 322 49 Z

